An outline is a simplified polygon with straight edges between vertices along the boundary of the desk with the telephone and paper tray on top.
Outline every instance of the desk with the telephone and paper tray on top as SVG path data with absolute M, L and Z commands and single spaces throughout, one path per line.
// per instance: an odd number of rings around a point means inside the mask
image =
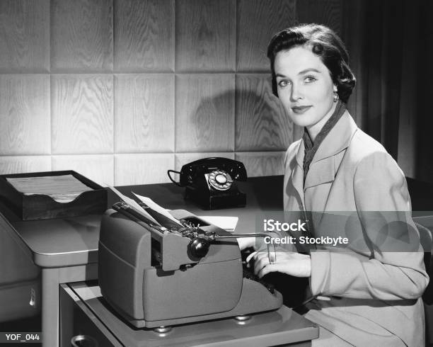
M 127 195 L 133 190 L 139 195 L 149 196 L 163 207 L 185 209 L 197 215 L 238 216 L 237 232 L 255 230 L 255 213 L 258 210 L 281 210 L 282 176 L 250 178 L 248 183 L 241 182 L 239 186 L 247 194 L 247 207 L 212 211 L 204 211 L 184 200 L 183 188 L 172 183 L 125 186 L 119 190 Z M 118 199 L 114 193 L 109 193 L 108 205 L 116 201 Z M 101 216 L 23 222 L 4 205 L 0 205 L 0 212 L 2 242 L 7 240 L 9 250 L 20 249 L 31 260 L 29 267 L 40 268 L 42 343 L 43 346 L 58 346 L 59 285 L 97 278 Z M 4 266 L 13 267 L 14 259 L 16 257 L 11 256 L 11 263 Z

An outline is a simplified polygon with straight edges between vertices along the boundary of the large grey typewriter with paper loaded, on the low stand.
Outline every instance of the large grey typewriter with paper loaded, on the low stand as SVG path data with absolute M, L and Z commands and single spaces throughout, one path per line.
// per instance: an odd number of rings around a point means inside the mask
M 236 237 L 185 210 L 158 224 L 127 203 L 105 212 L 98 278 L 105 301 L 135 328 L 170 326 L 278 309 L 282 295 L 242 263 Z

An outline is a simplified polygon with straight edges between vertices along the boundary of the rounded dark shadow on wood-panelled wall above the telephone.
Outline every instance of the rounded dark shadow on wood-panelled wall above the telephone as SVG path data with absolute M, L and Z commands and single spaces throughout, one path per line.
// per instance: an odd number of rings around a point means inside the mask
M 293 124 L 270 91 L 236 89 L 202 98 L 187 124 L 197 152 L 281 152 L 293 141 Z

